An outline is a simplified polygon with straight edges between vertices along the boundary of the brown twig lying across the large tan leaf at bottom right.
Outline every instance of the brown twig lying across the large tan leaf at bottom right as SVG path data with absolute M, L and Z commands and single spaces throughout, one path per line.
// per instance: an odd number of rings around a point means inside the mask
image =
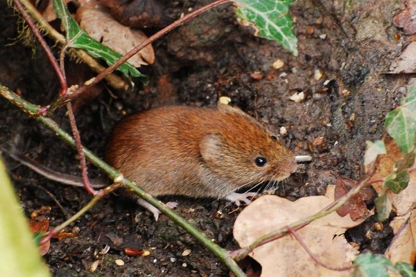
M 360 183 L 358 183 L 357 186 L 352 188 L 352 190 L 349 190 L 349 192 L 344 195 L 343 197 L 338 198 L 336 201 L 329 204 L 327 207 L 322 209 L 322 211 L 319 211 L 318 213 L 315 213 L 314 215 L 311 215 L 309 217 L 306 217 L 302 220 L 298 220 L 297 222 L 293 222 L 291 224 L 288 224 L 287 226 L 281 227 L 280 229 L 277 229 L 276 231 L 272 231 L 266 235 L 261 236 L 252 244 L 250 244 L 248 247 L 244 247 L 242 249 L 236 249 L 234 251 L 229 252 L 229 256 L 234 258 L 234 260 L 239 261 L 248 256 L 248 254 L 253 251 L 255 248 L 266 244 L 268 242 L 271 242 L 273 240 L 277 240 L 284 235 L 287 235 L 289 233 L 289 229 L 299 230 L 303 228 L 304 226 L 308 225 L 309 223 L 313 222 L 314 220 L 317 220 L 318 218 L 324 217 L 326 215 L 329 215 L 330 213 L 333 213 L 338 208 L 343 206 L 345 203 L 348 202 L 348 200 L 356 195 L 361 188 L 364 186 L 367 186 L 368 181 L 371 179 L 371 177 L 374 175 L 374 172 L 376 171 L 376 164 L 378 164 L 379 159 L 376 159 L 374 163 L 370 165 L 370 168 L 367 172 L 367 175 L 361 179 Z

